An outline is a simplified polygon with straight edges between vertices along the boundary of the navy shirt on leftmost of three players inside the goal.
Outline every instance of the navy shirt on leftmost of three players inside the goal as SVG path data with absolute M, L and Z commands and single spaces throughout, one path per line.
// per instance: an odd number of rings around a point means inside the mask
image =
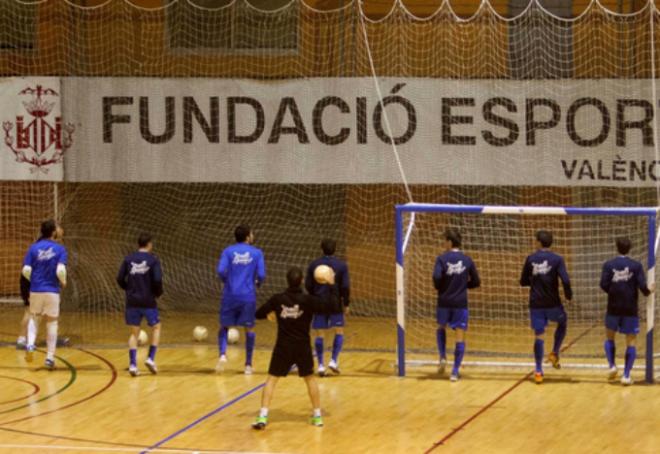
M 452 249 L 435 260 L 433 284 L 438 291 L 438 307 L 467 309 L 467 290 L 481 285 L 472 259 Z

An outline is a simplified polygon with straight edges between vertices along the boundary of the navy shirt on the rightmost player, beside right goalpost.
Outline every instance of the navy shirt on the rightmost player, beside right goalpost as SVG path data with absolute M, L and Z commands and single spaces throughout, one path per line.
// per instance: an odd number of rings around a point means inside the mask
M 607 293 L 607 314 L 620 317 L 638 317 L 638 291 L 651 293 L 642 264 L 626 256 L 605 262 L 600 288 Z

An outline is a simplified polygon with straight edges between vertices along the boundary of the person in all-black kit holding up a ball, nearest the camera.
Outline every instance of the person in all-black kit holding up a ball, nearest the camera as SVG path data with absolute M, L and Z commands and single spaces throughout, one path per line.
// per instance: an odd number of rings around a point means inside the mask
M 303 272 L 300 268 L 289 269 L 286 274 L 288 288 L 273 295 L 263 306 L 257 309 L 257 319 L 277 317 L 277 340 L 268 368 L 268 380 L 261 397 L 261 410 L 252 427 L 257 430 L 268 424 L 268 406 L 280 377 L 286 377 L 295 364 L 298 375 L 305 380 L 309 398 L 312 401 L 311 424 L 323 426 L 321 416 L 321 397 L 314 377 L 314 358 L 312 356 L 309 329 L 314 314 L 332 314 L 342 312 L 339 298 L 334 293 L 323 297 L 306 295 L 301 288 Z M 334 284 L 334 274 L 330 276 Z

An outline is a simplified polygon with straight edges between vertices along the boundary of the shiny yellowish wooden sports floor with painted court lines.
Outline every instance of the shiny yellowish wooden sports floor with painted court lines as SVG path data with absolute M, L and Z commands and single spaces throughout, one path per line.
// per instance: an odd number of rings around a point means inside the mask
M 13 340 L 16 315 L 0 322 L 0 339 Z M 391 353 L 346 348 L 342 374 L 320 382 L 325 427 L 307 424 L 304 384 L 290 377 L 276 390 L 268 428 L 255 432 L 266 349 L 245 376 L 242 348 L 230 349 L 228 371 L 216 375 L 211 344 L 164 347 L 157 376 L 132 378 L 124 348 L 62 348 L 48 372 L 43 353 L 27 364 L 6 346 L 0 453 L 660 452 L 660 386 L 641 384 L 641 372 L 640 384 L 625 388 L 601 372 L 565 370 L 548 371 L 541 386 L 528 371 L 476 368 L 450 383 L 432 368 L 398 378 Z

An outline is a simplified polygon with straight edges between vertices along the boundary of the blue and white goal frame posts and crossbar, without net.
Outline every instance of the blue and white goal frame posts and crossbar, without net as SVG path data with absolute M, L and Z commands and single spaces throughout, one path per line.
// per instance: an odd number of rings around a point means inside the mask
M 535 206 L 489 206 L 489 205 L 454 205 L 407 203 L 395 206 L 395 239 L 396 239 L 396 303 L 397 303 L 397 366 L 399 376 L 406 375 L 406 307 L 404 283 L 404 255 L 414 228 L 416 213 L 454 213 L 454 214 L 483 214 L 497 215 L 547 215 L 547 216 L 641 216 L 647 218 L 648 228 L 648 259 L 647 279 L 649 285 L 655 282 L 655 251 L 658 238 L 656 238 L 656 217 L 658 207 L 644 208 L 575 208 L 575 207 L 535 207 Z M 404 214 L 410 214 L 410 222 L 404 226 Z M 655 322 L 655 298 L 653 294 L 646 301 L 646 381 L 653 382 L 653 327 Z M 408 363 L 412 363 L 409 361 Z M 497 364 L 474 363 L 484 366 L 525 365 L 525 363 Z

